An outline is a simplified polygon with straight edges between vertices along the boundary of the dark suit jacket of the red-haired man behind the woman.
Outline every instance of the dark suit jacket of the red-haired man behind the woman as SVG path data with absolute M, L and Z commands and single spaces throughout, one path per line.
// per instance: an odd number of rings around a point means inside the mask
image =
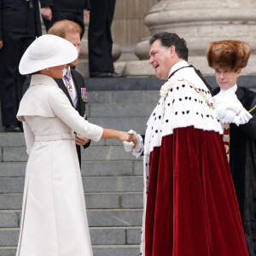
M 83 76 L 78 73 L 77 71 L 75 71 L 73 68 L 70 69 L 71 70 L 71 74 L 72 74 L 72 78 L 73 78 L 73 83 L 75 85 L 75 88 L 77 90 L 78 93 L 78 106 L 76 108 L 76 110 L 79 112 L 79 114 L 81 116 L 84 116 L 84 112 L 85 112 L 85 104 L 81 98 L 81 88 L 85 87 L 84 84 L 84 78 Z M 26 92 L 26 90 L 28 89 L 29 85 L 30 85 L 30 81 L 31 81 L 31 76 L 28 76 L 24 85 L 23 85 L 23 94 Z M 71 102 L 71 104 L 73 105 L 73 102 L 71 100 L 71 97 L 69 96 L 69 93 L 67 91 L 67 87 L 66 85 L 63 83 L 62 79 L 55 79 L 55 82 L 59 85 L 59 87 L 61 88 L 61 90 L 63 90 L 63 92 L 67 95 L 68 100 Z M 86 143 L 84 145 L 84 148 L 88 148 L 90 146 L 90 142 Z M 78 152 L 78 156 L 79 156 L 79 165 L 81 167 L 81 148 L 80 146 L 77 145 L 77 152 Z

